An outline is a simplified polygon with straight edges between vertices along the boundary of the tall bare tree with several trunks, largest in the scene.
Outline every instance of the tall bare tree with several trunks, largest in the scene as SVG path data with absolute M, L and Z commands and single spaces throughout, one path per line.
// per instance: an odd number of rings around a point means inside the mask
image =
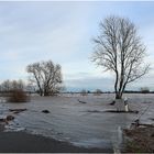
M 116 75 L 116 99 L 121 99 L 128 84 L 141 78 L 150 68 L 144 64 L 145 46 L 138 29 L 129 20 L 109 16 L 100 22 L 100 35 L 94 38 L 92 62 Z

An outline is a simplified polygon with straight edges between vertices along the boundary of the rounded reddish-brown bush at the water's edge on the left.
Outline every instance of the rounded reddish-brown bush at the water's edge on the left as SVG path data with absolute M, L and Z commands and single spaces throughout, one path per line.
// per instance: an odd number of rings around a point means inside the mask
M 22 89 L 15 89 L 10 92 L 8 101 L 10 102 L 28 102 L 30 97 Z

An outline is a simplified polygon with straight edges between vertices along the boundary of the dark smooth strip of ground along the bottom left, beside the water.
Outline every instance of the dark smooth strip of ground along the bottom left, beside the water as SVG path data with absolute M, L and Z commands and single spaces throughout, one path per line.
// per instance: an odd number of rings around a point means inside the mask
M 0 153 L 110 153 L 109 148 L 85 148 L 25 132 L 0 132 Z

